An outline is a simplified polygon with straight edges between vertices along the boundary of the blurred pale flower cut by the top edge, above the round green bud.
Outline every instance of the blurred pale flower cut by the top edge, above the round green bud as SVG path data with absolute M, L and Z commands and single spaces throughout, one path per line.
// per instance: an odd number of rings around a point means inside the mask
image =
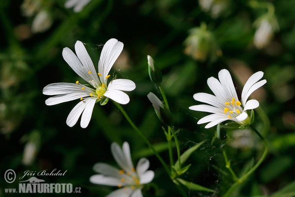
M 203 11 L 211 12 L 212 18 L 220 16 L 229 6 L 228 0 L 199 0 L 199 4 Z

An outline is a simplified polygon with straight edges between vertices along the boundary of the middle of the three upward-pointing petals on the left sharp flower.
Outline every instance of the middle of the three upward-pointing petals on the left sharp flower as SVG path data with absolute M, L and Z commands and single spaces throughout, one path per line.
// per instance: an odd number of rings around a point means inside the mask
M 77 54 L 80 62 L 85 67 L 86 71 L 87 72 L 90 71 L 90 74 L 88 73 L 89 77 L 97 82 L 98 76 L 97 76 L 96 70 L 93 66 L 92 60 L 91 60 L 88 52 L 86 51 L 84 44 L 79 40 L 75 44 L 75 51 L 76 51 L 76 54 Z

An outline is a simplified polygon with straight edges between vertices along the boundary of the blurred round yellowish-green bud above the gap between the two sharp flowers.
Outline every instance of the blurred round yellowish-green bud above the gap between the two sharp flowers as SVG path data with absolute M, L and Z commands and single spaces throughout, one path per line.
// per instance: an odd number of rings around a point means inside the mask
M 207 30 L 205 24 L 202 24 L 199 28 L 191 29 L 189 36 L 184 40 L 184 44 L 186 46 L 184 53 L 195 60 L 205 61 L 209 59 L 214 62 L 218 56 L 222 55 L 213 34 Z

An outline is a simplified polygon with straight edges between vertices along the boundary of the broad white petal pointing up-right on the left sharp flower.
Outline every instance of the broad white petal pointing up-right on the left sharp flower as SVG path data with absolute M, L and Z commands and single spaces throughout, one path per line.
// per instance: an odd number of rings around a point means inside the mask
M 98 72 L 101 74 L 102 83 L 107 83 L 106 76 L 122 52 L 123 46 L 124 44 L 115 38 L 109 39 L 103 46 L 98 62 Z

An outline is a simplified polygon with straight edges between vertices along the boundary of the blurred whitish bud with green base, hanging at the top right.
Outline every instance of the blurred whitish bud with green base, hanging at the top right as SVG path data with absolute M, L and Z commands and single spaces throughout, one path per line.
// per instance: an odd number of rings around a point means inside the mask
M 267 13 L 254 22 L 257 28 L 254 34 L 254 44 L 258 49 L 269 44 L 272 36 L 279 30 L 279 25 L 274 14 Z

